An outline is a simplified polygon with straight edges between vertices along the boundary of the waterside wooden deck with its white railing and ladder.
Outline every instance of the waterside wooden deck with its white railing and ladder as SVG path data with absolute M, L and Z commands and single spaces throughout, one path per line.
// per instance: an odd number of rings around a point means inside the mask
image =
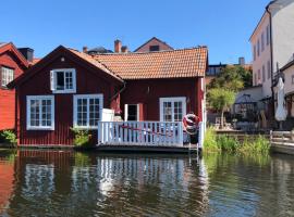
M 203 135 L 199 133 L 199 141 Z M 181 122 L 99 122 L 96 150 L 197 153 L 201 149 L 201 144 L 185 144 L 186 139 Z

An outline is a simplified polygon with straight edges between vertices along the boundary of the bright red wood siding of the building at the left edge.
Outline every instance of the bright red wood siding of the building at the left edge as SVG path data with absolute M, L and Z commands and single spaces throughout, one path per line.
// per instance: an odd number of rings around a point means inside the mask
M 23 74 L 24 69 L 22 68 L 20 61 L 10 51 L 0 54 L 0 72 L 1 66 L 13 68 L 14 78 Z M 14 127 L 15 127 L 15 90 L 8 90 L 0 87 L 0 130 L 14 129 Z

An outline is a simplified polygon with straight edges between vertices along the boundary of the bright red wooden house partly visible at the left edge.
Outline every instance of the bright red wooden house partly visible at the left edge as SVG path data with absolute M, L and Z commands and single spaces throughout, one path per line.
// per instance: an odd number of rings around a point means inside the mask
M 0 43 L 0 130 L 15 127 L 15 91 L 7 85 L 28 67 L 28 62 L 13 43 Z

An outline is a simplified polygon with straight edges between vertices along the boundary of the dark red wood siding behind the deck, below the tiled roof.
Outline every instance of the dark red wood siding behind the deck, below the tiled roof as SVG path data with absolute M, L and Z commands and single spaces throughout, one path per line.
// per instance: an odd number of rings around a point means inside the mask
M 145 120 L 160 120 L 160 98 L 185 97 L 186 112 L 200 116 L 203 94 L 200 78 L 126 80 L 126 89 L 121 94 L 121 108 L 124 104 L 143 104 Z M 201 99 L 200 99 L 201 98 Z

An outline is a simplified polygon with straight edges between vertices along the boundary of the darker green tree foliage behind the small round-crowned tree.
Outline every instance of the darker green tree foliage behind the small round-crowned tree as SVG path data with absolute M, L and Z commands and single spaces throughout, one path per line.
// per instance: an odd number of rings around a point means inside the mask
M 234 92 L 252 87 L 253 74 L 242 66 L 226 66 L 208 86 L 208 89 L 223 88 Z

